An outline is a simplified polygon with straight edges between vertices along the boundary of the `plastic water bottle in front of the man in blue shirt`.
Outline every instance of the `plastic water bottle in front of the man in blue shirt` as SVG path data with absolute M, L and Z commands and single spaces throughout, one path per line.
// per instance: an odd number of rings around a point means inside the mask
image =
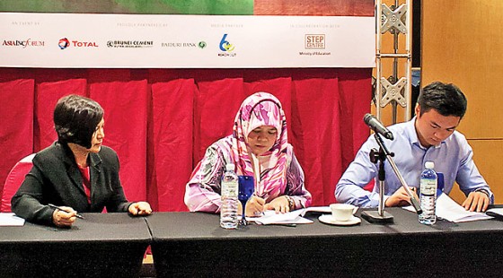
M 419 199 L 421 203 L 421 210 L 423 213 L 419 214 L 419 222 L 421 224 L 431 225 L 437 222 L 437 215 L 435 215 L 435 201 L 437 199 L 437 173 L 435 163 L 427 161 L 425 163 L 425 170 L 421 173 L 420 178 L 420 192 Z

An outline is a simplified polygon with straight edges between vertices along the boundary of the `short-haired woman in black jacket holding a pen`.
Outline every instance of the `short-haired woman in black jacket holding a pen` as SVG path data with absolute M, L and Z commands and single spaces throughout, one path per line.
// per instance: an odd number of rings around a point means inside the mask
M 69 227 L 76 212 L 152 213 L 146 202 L 128 202 L 119 180 L 117 153 L 101 143 L 103 109 L 94 100 L 68 95 L 54 109 L 57 142 L 38 152 L 13 195 L 13 213 L 29 222 Z M 55 209 L 49 204 L 61 208 Z

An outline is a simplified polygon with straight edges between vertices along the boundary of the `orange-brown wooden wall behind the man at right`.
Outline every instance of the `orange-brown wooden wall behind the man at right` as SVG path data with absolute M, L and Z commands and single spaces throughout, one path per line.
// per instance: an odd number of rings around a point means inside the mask
M 468 98 L 458 130 L 469 139 L 474 160 L 503 204 L 503 1 L 423 0 L 421 83 L 455 83 Z M 461 192 L 454 199 L 463 202 Z

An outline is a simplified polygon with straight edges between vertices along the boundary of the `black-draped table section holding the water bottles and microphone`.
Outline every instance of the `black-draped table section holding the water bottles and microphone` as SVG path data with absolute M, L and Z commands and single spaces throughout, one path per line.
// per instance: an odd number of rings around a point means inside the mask
M 154 213 L 158 277 L 497 277 L 503 274 L 503 222 L 421 225 L 415 213 L 387 208 L 394 222 L 356 226 L 251 225 L 224 230 L 218 215 Z M 360 212 L 357 213 L 359 215 Z M 308 215 L 309 217 L 309 215 Z

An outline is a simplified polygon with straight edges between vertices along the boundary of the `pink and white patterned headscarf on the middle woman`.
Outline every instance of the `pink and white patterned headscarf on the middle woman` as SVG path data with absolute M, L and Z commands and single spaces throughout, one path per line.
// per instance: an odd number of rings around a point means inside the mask
M 292 146 L 287 143 L 287 119 L 281 103 L 267 92 L 256 92 L 243 100 L 235 117 L 231 155 L 238 175 L 255 177 L 247 138 L 259 126 L 274 126 L 278 131 L 276 142 L 260 155 L 260 181 L 255 180 L 255 194 L 272 199 L 282 195 L 287 187 L 287 163 L 292 160 Z

